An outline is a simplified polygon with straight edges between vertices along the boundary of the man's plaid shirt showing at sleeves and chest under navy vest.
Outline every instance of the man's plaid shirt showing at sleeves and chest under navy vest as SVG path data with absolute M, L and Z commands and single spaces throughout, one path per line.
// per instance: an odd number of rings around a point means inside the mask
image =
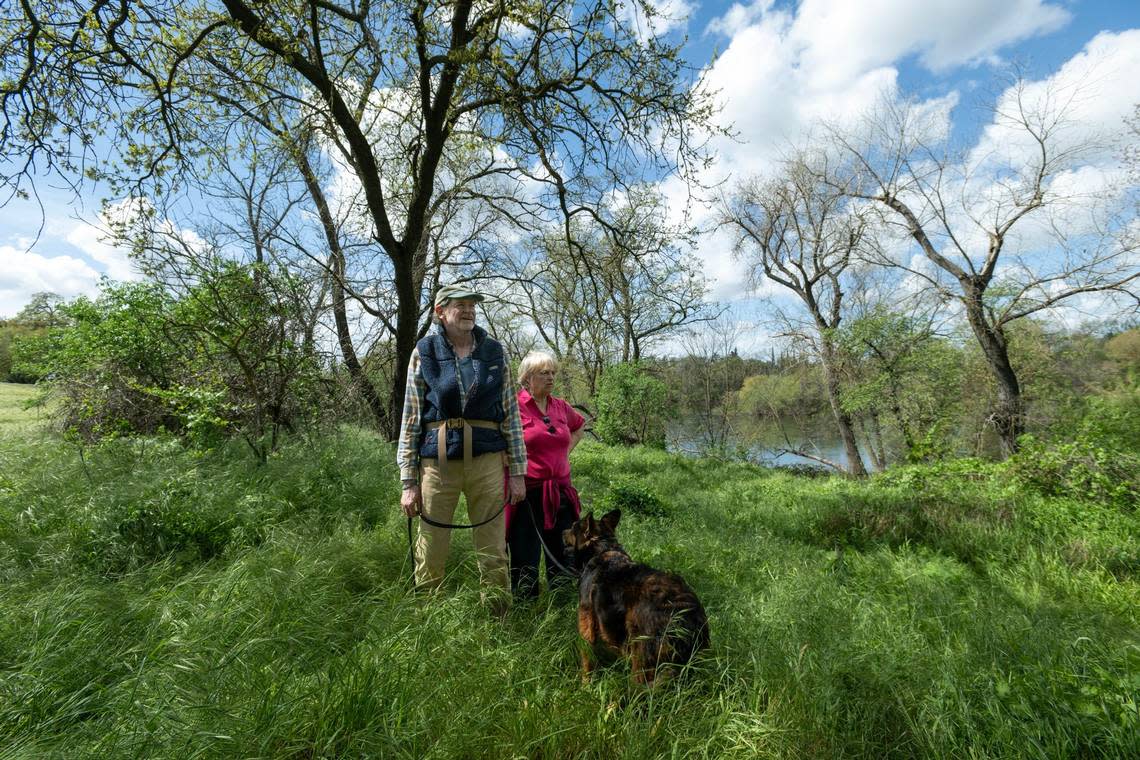
M 445 336 L 445 341 L 447 337 Z M 455 374 L 459 376 L 458 359 L 456 361 Z M 503 393 L 500 400 L 503 409 L 506 411 L 503 430 L 503 438 L 506 439 L 507 463 L 512 475 L 527 474 L 527 444 L 522 438 L 522 420 L 519 418 L 519 399 L 514 393 L 514 382 L 511 378 L 511 365 L 503 362 Z M 408 385 L 404 392 L 404 415 L 400 423 L 400 442 L 396 449 L 396 464 L 400 468 L 400 480 L 420 480 L 420 434 L 423 432 L 423 423 L 420 418 L 424 401 L 427 398 L 427 383 L 424 382 L 423 373 L 420 371 L 420 349 L 412 350 L 412 360 L 408 362 Z M 467 392 L 459 383 L 459 401 L 467 402 Z

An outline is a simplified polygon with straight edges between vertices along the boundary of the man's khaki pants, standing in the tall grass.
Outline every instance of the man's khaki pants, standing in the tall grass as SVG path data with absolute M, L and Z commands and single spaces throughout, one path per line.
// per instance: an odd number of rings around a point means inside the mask
M 462 459 L 450 459 L 440 476 L 439 461 L 424 459 L 421 469 L 423 513 L 441 523 L 454 523 L 459 493 L 467 497 L 470 523 L 479 523 L 498 512 L 505 500 L 503 493 L 503 455 L 482 453 L 473 457 L 467 467 Z M 506 531 L 503 514 L 486 525 L 471 531 L 479 558 L 479 575 L 483 586 L 511 590 L 511 575 L 506 562 Z M 435 528 L 420 521 L 416 538 L 416 586 L 434 588 L 443 580 L 443 567 L 450 548 L 451 530 Z

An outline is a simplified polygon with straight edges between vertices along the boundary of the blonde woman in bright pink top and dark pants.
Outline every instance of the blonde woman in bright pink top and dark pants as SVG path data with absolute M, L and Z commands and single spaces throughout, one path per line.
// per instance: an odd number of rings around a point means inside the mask
M 585 434 L 581 415 L 552 395 L 557 365 L 548 353 L 532 351 L 519 368 L 519 415 L 527 442 L 527 498 L 506 510 L 506 541 L 511 554 L 511 590 L 538 596 L 538 558 L 543 544 L 555 562 L 565 565 L 562 531 L 578 518 L 578 491 L 570 484 L 570 452 Z M 539 542 L 539 536 L 542 542 Z M 549 587 L 570 580 L 546 559 Z

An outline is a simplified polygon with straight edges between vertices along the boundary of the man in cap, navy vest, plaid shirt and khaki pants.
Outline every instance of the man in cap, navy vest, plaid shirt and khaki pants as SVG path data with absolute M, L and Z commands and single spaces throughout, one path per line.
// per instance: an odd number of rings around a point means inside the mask
M 500 589 L 505 600 L 510 581 L 500 514 L 503 469 L 506 464 L 507 500 L 521 500 L 527 451 L 511 365 L 498 341 L 475 326 L 475 304 L 482 300 L 459 285 L 439 289 L 439 328 L 416 344 L 408 363 L 396 456 L 404 514 L 451 523 L 463 493 L 471 522 L 488 521 L 472 530 L 480 579 L 484 587 Z M 415 544 L 418 588 L 434 588 L 443 580 L 450 540 L 450 529 L 421 521 Z M 505 611 L 499 599 L 491 603 L 497 612 Z

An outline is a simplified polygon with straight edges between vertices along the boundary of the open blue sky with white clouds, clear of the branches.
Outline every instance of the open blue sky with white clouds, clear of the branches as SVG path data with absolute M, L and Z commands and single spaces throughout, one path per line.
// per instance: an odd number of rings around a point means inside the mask
M 942 108 L 955 140 L 1000 146 L 985 107 L 1002 95 L 1012 63 L 1034 84 L 1080 90 L 1080 129 L 1119 131 L 1140 103 L 1140 2 L 1132 0 L 660 0 L 662 17 L 634 21 L 645 33 L 685 39 L 684 52 L 718 91 L 718 140 L 708 179 L 771 171 L 780 152 L 817 119 L 842 121 L 885 95 Z M 1118 152 L 1091 160 L 1109 175 Z M 124 251 L 100 239 L 99 198 L 76 199 L 40 183 L 43 214 L 26 202 L 0 207 L 0 317 L 33 293 L 93 294 L 99 278 L 137 277 Z M 667 197 L 683 188 L 666 183 Z M 700 221 L 701 210 L 695 214 Z M 42 229 L 41 229 L 42 222 Z M 34 245 L 33 245 L 34 240 Z M 755 308 L 725 239 L 695 250 L 712 295 L 742 316 Z

